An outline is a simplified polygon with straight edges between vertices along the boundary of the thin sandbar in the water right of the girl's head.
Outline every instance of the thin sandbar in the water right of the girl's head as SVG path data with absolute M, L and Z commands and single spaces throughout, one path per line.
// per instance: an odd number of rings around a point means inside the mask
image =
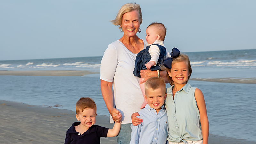
M 207 81 L 207 82 L 222 82 L 222 83 L 243 83 L 243 84 L 256 84 L 256 78 L 190 78 L 194 81 Z

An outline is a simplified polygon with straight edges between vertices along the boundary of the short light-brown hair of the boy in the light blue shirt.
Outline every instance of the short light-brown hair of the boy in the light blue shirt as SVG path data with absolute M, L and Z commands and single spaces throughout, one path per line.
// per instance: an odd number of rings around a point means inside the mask
M 145 92 L 148 91 L 148 89 L 152 88 L 153 90 L 161 88 L 165 92 L 165 81 L 161 77 L 151 77 L 145 82 Z

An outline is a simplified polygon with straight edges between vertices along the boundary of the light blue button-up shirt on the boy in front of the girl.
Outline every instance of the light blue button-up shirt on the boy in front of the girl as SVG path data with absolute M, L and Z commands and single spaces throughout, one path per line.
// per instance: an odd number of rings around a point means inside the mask
M 156 112 L 148 104 L 139 111 L 141 124 L 133 126 L 130 144 L 166 144 L 168 137 L 168 118 L 164 105 Z

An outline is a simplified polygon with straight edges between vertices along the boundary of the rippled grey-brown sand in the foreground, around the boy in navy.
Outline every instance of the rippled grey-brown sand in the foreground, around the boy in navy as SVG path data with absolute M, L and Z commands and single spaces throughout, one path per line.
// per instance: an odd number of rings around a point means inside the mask
M 66 131 L 77 121 L 75 112 L 43 106 L 0 101 L 1 144 L 64 143 Z M 112 128 L 108 116 L 97 116 L 96 124 Z M 101 138 L 102 144 L 116 144 L 116 137 Z M 256 144 L 255 141 L 209 135 L 209 144 Z

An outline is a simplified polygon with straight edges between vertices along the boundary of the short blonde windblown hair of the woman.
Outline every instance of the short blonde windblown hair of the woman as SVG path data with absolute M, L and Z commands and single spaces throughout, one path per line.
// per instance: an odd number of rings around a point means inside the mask
M 124 4 L 118 11 L 116 15 L 116 19 L 110 22 L 112 22 L 112 24 L 115 26 L 119 26 L 118 28 L 121 29 L 120 25 L 122 24 L 123 15 L 127 12 L 132 12 L 132 11 L 137 11 L 139 13 L 140 24 L 142 24 L 142 13 L 141 13 L 140 5 L 134 2 Z

